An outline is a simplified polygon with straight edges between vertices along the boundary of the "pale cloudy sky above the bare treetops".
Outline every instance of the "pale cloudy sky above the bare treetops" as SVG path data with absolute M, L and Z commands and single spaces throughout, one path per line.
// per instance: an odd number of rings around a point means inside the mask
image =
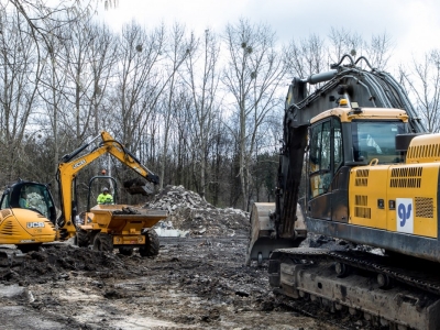
M 114 1 L 114 0 L 112 0 Z M 326 37 L 331 28 L 355 32 L 370 40 L 388 34 L 394 44 L 393 58 L 399 63 L 420 58 L 440 50 L 440 1 L 438 0 L 117 0 L 98 18 L 118 31 L 135 20 L 145 28 L 162 22 L 185 24 L 201 34 L 206 29 L 221 33 L 240 18 L 265 23 L 280 43 L 310 34 Z

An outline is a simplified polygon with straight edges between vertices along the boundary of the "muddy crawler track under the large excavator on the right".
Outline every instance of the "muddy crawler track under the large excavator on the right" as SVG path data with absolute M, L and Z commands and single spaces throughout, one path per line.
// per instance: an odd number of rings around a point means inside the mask
M 391 329 L 438 329 L 438 271 L 433 263 L 408 257 L 311 248 L 276 250 L 268 266 L 276 293 L 319 299 L 333 310 L 362 311 Z

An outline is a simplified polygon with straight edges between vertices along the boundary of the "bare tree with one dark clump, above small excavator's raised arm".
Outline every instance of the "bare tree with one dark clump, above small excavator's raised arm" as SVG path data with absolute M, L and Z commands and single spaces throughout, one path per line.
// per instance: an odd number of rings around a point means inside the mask
M 140 127 L 145 128 L 158 90 L 163 90 L 160 62 L 163 59 L 164 45 L 164 26 L 150 34 L 134 22 L 122 29 L 117 95 L 111 106 L 114 109 L 113 117 L 120 123 L 120 129 L 114 128 L 116 133 L 130 147 L 136 143 L 133 140 L 134 131 Z

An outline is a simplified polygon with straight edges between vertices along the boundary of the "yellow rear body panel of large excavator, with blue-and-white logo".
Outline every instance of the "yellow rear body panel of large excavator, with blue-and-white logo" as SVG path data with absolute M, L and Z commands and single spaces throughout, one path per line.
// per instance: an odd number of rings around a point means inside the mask
M 437 238 L 440 163 L 370 165 L 350 173 L 349 223 Z

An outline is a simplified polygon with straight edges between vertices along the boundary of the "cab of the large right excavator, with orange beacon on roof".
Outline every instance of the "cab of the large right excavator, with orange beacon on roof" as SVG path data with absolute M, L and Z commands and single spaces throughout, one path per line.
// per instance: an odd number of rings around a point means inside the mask
M 402 162 L 396 147 L 396 135 L 408 131 L 403 120 L 394 120 L 402 110 L 383 110 L 382 118 L 371 119 L 375 112 L 364 109 L 350 114 L 344 108 L 310 120 L 307 216 L 314 219 L 348 223 L 349 180 L 353 167 Z M 344 119 L 344 120 L 341 120 Z M 377 167 L 376 167 L 377 168 Z M 361 175 L 361 174 L 360 174 Z M 363 185 L 363 177 L 358 179 Z

